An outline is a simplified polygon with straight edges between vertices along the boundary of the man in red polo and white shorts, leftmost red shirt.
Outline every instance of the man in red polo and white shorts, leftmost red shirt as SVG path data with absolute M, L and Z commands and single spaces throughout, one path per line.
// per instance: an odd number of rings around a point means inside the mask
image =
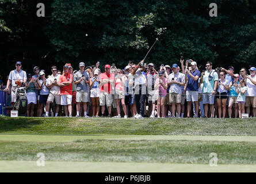
M 64 106 L 66 117 L 72 117 L 72 82 L 73 75 L 68 72 L 68 65 L 63 67 L 64 73 L 60 76 L 60 105 Z

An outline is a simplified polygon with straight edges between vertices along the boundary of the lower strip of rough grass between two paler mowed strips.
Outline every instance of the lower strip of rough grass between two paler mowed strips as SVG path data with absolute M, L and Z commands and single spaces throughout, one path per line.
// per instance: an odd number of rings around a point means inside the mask
M 256 143 L 232 141 L 78 140 L 69 143 L 0 142 L 0 160 L 256 164 Z

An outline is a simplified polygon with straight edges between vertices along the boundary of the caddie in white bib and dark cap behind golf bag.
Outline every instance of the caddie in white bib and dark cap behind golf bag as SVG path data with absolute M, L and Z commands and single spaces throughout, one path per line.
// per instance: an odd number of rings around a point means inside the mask
M 12 84 L 12 105 L 14 110 L 14 103 L 16 102 L 16 91 L 18 84 L 26 84 L 26 72 L 21 70 L 21 62 L 16 62 L 16 70 L 12 70 L 9 74 L 7 85 L 4 91 L 9 91 L 9 86 Z

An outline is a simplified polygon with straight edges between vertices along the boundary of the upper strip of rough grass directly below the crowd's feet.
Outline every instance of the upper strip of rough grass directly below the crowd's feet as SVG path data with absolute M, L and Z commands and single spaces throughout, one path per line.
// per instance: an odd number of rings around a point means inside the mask
M 64 135 L 219 135 L 256 136 L 256 118 L 112 118 L 0 117 L 0 133 Z

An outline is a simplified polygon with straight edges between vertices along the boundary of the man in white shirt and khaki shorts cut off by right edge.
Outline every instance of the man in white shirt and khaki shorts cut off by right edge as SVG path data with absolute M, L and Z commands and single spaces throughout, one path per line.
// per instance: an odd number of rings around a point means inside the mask
M 253 106 L 253 117 L 256 117 L 256 68 L 250 68 L 250 75 L 246 75 L 246 113 L 250 115 L 250 106 Z

